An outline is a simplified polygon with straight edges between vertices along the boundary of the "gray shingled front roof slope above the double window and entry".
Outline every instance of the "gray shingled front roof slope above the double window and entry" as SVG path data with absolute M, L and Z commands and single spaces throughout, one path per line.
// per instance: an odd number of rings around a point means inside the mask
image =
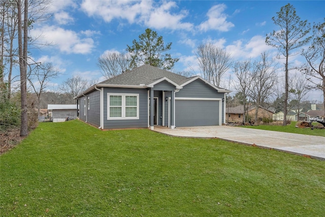
M 124 72 L 118 76 L 109 78 L 100 83 L 121 84 L 121 85 L 140 85 L 140 84 L 148 85 L 164 77 L 174 81 L 178 85 L 181 85 L 190 79 L 150 65 L 142 65 L 134 70 Z

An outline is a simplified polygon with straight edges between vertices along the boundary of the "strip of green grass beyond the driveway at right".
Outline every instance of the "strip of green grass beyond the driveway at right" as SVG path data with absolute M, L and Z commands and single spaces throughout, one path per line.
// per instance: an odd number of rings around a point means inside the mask
M 296 128 L 297 121 L 291 121 L 287 126 L 278 126 L 278 125 L 258 125 L 258 126 L 241 126 L 244 128 L 253 128 L 259 130 L 270 130 L 270 131 L 279 131 L 285 133 L 298 133 L 311 136 L 325 136 L 325 129 L 314 129 L 310 128 Z M 316 122 L 313 122 L 313 125 L 316 125 Z

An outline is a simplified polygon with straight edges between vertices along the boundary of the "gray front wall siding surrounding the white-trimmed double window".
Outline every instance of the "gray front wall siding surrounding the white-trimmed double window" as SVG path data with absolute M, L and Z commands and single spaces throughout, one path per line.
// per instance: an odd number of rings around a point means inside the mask
M 139 94 L 139 119 L 108 120 L 107 93 Z M 147 128 L 148 127 L 148 90 L 136 88 L 104 88 L 104 129 Z

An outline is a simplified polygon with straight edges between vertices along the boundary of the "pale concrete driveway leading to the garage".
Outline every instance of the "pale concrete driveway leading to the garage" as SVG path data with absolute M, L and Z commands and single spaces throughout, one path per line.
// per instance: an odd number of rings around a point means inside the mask
M 219 138 L 242 144 L 273 148 L 325 160 L 325 137 L 230 126 L 154 127 L 154 131 L 179 137 Z

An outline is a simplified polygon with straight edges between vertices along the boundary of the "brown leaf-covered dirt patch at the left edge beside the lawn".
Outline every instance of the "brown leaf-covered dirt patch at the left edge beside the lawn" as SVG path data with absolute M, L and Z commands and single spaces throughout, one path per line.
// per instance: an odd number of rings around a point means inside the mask
M 0 130 L 0 154 L 19 144 L 25 137 L 19 136 L 20 129 Z

